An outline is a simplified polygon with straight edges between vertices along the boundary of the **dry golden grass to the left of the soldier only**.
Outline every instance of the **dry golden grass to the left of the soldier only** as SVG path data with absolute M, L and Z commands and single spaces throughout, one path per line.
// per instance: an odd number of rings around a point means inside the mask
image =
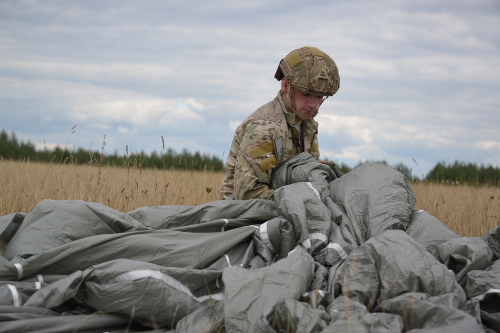
M 98 161 L 97 161 L 98 162 Z M 43 199 L 98 202 L 128 212 L 143 206 L 197 206 L 216 200 L 223 174 L 142 170 L 131 156 L 127 168 L 0 160 L 0 216 L 30 212 Z

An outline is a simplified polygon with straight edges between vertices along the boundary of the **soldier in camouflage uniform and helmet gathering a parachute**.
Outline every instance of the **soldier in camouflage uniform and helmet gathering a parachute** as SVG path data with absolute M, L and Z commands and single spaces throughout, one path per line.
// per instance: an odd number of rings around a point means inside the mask
M 316 116 L 321 103 L 337 92 L 338 69 L 326 53 L 304 46 L 281 59 L 277 96 L 236 129 L 218 198 L 273 199 L 271 172 L 285 159 L 307 151 L 318 162 Z

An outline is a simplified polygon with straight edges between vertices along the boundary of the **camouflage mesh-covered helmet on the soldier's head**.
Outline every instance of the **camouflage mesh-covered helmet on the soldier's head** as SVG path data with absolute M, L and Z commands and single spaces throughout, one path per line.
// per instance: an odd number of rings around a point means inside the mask
M 303 93 L 318 96 L 332 96 L 340 84 L 335 61 L 319 48 L 311 46 L 288 53 L 279 62 L 274 77 L 278 81 L 284 77 Z

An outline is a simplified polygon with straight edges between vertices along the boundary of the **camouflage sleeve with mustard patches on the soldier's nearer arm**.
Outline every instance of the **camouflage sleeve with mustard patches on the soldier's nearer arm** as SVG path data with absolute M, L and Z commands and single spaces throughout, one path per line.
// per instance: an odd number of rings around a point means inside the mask
M 282 137 L 276 128 L 271 122 L 247 128 L 240 142 L 234 168 L 236 200 L 273 199 L 274 190 L 269 184 L 272 170 L 277 165 L 276 140 Z

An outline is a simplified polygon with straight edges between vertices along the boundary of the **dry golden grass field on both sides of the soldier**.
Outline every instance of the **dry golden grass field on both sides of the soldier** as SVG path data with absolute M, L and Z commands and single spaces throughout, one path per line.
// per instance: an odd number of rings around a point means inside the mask
M 46 164 L 0 160 L 0 216 L 30 212 L 43 199 L 99 202 L 121 212 L 162 205 L 196 206 L 216 200 L 223 174 L 142 170 L 98 165 Z M 496 187 L 412 184 L 417 202 L 449 229 L 482 236 L 500 224 Z

